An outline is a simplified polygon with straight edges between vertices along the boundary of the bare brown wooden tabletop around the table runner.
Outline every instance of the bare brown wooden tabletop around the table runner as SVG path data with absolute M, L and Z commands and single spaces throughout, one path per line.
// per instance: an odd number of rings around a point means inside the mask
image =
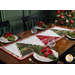
M 52 27 L 52 24 L 49 23 L 48 26 Z M 38 32 L 40 32 L 40 31 L 38 30 Z M 28 37 L 30 35 L 33 35 L 30 30 L 17 34 L 19 39 Z M 74 44 L 75 44 L 74 41 L 67 40 L 64 37 L 63 39 L 56 42 L 56 45 L 55 45 L 54 49 L 60 55 Z M 37 63 L 37 64 L 53 63 L 53 62 L 48 62 L 48 63 L 40 62 L 40 61 L 36 60 L 33 56 L 30 56 L 30 57 L 28 57 L 28 58 L 26 58 L 22 61 L 19 61 L 18 59 L 14 58 L 11 55 L 9 55 L 8 53 L 4 52 L 3 50 L 0 50 L 0 60 L 2 60 L 6 64 L 32 64 L 32 62 L 29 61 L 29 58 L 31 58 L 34 61 L 33 64 L 34 63 Z

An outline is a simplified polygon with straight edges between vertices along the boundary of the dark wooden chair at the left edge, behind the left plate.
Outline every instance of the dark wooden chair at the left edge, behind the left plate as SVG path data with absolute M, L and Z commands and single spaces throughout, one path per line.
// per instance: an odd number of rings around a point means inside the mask
M 9 21 L 0 22 L 0 36 L 6 33 L 7 31 L 11 32 Z

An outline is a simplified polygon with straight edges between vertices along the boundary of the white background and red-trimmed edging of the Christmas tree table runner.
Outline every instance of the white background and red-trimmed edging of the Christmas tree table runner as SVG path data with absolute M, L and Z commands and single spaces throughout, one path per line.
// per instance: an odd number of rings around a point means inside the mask
M 66 29 L 66 28 L 61 28 L 61 27 L 53 27 L 53 28 L 49 28 L 43 32 L 37 33 L 33 36 L 30 36 L 28 38 L 23 38 L 22 40 L 19 40 L 17 42 L 14 42 L 12 44 L 9 44 L 7 46 L 2 46 L 0 47 L 2 50 L 4 50 L 5 52 L 7 52 L 8 54 L 14 56 L 15 58 L 19 59 L 19 60 L 23 60 L 25 58 L 27 58 L 28 56 L 31 56 L 33 54 L 27 54 L 25 56 L 22 57 L 22 55 L 20 54 L 16 43 L 25 43 L 25 44 L 32 44 L 32 45 L 44 45 L 43 42 L 41 42 L 36 35 L 44 35 L 44 36 L 55 36 L 55 37 L 60 37 L 60 35 L 56 34 L 54 31 L 50 30 L 50 29 L 59 29 L 59 30 L 70 30 L 70 29 Z

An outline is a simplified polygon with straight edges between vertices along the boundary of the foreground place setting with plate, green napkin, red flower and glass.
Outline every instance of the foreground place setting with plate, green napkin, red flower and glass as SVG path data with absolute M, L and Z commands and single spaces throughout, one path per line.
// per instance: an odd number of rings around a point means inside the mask
M 51 62 L 58 60 L 58 53 L 52 48 L 55 46 L 56 41 L 54 37 L 48 39 L 48 44 L 43 49 L 35 49 L 33 57 L 41 62 Z M 39 47 L 37 47 L 39 48 Z

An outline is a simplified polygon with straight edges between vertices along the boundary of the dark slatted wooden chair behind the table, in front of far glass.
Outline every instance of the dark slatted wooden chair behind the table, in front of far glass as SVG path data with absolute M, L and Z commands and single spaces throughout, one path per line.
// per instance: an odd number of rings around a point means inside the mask
M 38 22 L 38 16 L 37 15 L 31 15 L 22 17 L 23 25 L 24 25 L 24 31 L 30 30 L 33 26 L 35 26 L 35 23 Z

